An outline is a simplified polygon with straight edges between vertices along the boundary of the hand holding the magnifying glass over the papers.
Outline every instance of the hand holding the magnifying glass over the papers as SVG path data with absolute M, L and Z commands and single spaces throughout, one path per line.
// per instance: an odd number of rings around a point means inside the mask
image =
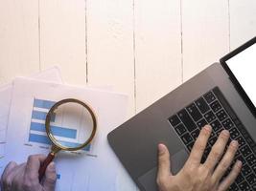
M 20 165 L 10 162 L 1 177 L 2 191 L 54 191 L 57 180 L 54 162 L 48 165 L 44 179 L 39 182 L 38 170 L 44 159 L 43 155 L 34 155 Z

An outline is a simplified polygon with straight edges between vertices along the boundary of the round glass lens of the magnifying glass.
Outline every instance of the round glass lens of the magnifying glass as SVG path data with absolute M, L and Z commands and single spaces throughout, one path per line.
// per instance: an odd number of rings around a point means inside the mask
M 92 135 L 93 118 L 81 104 L 67 102 L 53 111 L 49 129 L 49 136 L 54 144 L 62 149 L 75 150 L 86 143 Z

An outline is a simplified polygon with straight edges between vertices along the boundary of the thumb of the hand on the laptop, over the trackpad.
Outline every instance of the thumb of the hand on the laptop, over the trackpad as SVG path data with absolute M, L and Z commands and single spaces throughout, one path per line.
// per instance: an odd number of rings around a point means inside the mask
M 166 179 L 172 173 L 170 172 L 171 162 L 168 148 L 164 144 L 158 144 L 158 179 Z

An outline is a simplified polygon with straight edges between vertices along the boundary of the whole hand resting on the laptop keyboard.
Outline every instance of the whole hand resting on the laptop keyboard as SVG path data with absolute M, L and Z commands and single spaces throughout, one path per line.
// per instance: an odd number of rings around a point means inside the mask
M 160 191 L 225 191 L 236 180 L 242 168 L 242 162 L 239 160 L 228 176 L 221 180 L 239 146 L 237 140 L 232 140 L 223 155 L 229 138 L 229 132 L 226 130 L 221 132 L 205 162 L 200 163 L 211 131 L 209 125 L 202 128 L 189 158 L 176 175 L 170 172 L 171 162 L 167 147 L 163 144 L 158 145 L 159 163 L 156 181 Z

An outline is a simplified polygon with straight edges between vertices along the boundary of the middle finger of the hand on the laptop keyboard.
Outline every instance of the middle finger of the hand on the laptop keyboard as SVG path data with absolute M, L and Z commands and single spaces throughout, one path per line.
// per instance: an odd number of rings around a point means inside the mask
M 221 156 L 223 155 L 228 138 L 229 138 L 229 132 L 227 130 L 221 131 L 219 138 L 213 145 L 210 154 L 208 155 L 206 161 L 204 162 L 204 165 L 210 171 L 212 171 L 215 168 L 216 164 L 221 159 Z

